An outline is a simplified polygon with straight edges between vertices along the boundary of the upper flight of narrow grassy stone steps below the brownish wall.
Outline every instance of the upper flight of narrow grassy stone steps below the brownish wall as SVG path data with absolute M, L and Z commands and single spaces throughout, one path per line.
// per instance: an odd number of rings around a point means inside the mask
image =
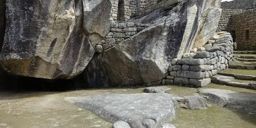
M 234 51 L 231 69 L 256 69 L 256 51 Z

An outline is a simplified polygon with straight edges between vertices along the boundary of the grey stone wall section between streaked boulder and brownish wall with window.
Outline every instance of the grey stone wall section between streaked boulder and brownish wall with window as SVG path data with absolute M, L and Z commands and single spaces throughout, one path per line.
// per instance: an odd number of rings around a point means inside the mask
M 219 19 L 219 24 L 216 32 L 227 31 L 232 35 L 232 15 L 236 15 L 237 13 L 240 13 L 242 11 L 243 10 L 222 9 L 221 18 Z

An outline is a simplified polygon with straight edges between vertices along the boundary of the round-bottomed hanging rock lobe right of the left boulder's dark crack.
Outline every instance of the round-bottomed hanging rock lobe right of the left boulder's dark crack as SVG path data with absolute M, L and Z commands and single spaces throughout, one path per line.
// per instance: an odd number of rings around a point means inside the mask
M 105 37 L 110 31 L 111 2 L 83 0 L 83 29 Z

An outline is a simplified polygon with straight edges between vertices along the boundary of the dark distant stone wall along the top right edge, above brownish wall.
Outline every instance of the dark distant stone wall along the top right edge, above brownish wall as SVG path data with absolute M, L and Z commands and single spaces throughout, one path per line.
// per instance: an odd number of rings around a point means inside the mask
M 256 4 L 256 0 L 233 0 L 221 3 L 221 8 L 225 9 L 248 9 Z

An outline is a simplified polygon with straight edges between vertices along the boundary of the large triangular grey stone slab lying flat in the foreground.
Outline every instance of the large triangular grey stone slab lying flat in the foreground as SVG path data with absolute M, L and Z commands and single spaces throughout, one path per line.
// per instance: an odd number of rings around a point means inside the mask
M 178 102 L 166 93 L 103 94 L 67 97 L 66 101 L 115 123 L 125 121 L 132 128 L 158 128 L 177 116 Z

